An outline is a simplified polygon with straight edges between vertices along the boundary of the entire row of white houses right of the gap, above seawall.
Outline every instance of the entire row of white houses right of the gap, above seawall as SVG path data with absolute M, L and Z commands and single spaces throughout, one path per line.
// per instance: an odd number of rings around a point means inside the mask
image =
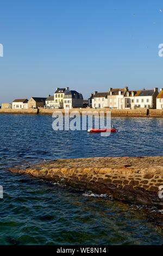
M 163 89 L 128 90 L 124 88 L 110 88 L 109 92 L 95 92 L 92 96 L 92 108 L 157 108 L 163 109 Z

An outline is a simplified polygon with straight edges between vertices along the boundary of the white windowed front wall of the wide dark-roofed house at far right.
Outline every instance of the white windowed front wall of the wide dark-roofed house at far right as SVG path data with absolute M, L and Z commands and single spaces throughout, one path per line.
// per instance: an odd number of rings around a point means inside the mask
M 134 105 L 135 107 L 151 108 L 153 107 L 153 97 L 152 96 L 135 96 Z

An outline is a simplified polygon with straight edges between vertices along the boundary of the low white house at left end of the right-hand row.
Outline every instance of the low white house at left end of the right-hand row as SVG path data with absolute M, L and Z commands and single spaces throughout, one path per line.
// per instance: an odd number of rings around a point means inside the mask
M 108 107 L 108 92 L 98 93 L 92 96 L 92 108 L 104 108 Z

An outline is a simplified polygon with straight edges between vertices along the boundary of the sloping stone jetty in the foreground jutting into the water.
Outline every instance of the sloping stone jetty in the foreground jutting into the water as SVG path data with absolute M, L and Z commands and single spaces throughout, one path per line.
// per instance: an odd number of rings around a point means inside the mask
M 163 208 L 163 199 L 159 197 L 163 191 L 163 156 L 55 160 L 9 170 L 108 194 L 123 202 Z

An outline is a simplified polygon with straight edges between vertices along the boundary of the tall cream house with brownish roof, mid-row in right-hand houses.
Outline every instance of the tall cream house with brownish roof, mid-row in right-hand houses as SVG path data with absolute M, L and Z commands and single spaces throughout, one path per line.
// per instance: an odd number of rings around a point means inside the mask
M 108 93 L 108 106 L 110 108 L 124 109 L 124 96 L 128 92 L 128 87 L 124 88 L 110 88 Z

